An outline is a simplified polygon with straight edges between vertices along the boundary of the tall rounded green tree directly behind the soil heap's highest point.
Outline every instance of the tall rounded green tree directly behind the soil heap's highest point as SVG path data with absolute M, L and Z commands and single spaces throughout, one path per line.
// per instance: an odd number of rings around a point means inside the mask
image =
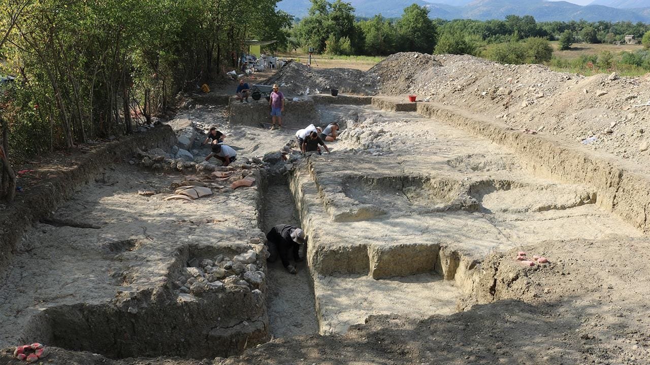
M 437 27 L 429 19 L 429 10 L 413 4 L 404 8 L 404 14 L 396 23 L 398 44 L 402 51 L 431 52 L 435 47 Z

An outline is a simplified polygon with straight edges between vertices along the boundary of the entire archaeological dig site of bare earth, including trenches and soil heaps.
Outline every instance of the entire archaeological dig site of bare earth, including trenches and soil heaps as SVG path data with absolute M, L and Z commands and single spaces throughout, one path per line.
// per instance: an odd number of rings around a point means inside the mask
M 649 76 L 397 53 L 268 77 L 280 129 L 212 88 L 31 169 L 0 210 L 0 364 L 650 364 Z

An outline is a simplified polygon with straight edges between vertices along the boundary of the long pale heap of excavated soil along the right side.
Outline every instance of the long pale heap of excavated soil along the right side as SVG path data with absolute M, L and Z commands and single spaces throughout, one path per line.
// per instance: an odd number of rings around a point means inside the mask
M 498 118 L 513 129 L 552 134 L 642 166 L 650 164 L 650 107 L 635 107 L 650 101 L 650 77 L 584 77 L 540 65 L 504 65 L 458 55 L 437 55 L 441 66 L 430 61 L 428 67 L 399 67 L 414 59 L 432 59 L 416 55 L 398 53 L 370 69 L 382 75 L 380 94 L 417 94 L 418 99 Z

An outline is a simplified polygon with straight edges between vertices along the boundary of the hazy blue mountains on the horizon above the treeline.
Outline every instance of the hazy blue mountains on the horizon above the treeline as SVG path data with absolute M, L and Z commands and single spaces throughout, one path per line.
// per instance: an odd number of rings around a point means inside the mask
M 386 18 L 402 15 L 402 10 L 413 3 L 429 8 L 431 18 L 443 19 L 504 19 L 507 15 L 532 15 L 537 21 L 641 21 L 650 23 L 650 0 L 595 0 L 580 6 L 566 1 L 546 0 L 347 0 L 356 9 L 356 15 Z M 595 4 L 596 3 L 596 4 Z M 608 6 L 599 5 L 607 3 Z M 643 3 L 643 4 L 642 4 Z M 639 6 L 641 5 L 641 6 Z M 282 0 L 281 10 L 294 16 L 307 15 L 309 0 Z M 616 7 L 614 7 L 616 6 Z M 628 8 L 632 6 L 632 8 Z

